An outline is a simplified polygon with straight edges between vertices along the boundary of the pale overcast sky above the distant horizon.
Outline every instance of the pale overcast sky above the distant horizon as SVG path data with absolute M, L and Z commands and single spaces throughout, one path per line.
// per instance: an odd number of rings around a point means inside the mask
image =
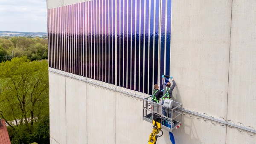
M 47 32 L 47 0 L 0 0 L 0 31 Z

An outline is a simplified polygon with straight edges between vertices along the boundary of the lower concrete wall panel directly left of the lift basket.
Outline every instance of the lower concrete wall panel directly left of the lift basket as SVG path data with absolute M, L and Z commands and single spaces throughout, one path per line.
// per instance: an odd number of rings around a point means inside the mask
M 116 92 L 116 144 L 145 144 L 152 124 L 142 121 L 142 100 Z

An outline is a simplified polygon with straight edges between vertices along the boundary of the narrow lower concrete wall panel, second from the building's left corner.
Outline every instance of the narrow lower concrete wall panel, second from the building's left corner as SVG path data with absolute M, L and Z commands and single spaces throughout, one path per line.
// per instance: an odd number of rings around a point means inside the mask
M 87 84 L 66 78 L 67 144 L 87 141 Z

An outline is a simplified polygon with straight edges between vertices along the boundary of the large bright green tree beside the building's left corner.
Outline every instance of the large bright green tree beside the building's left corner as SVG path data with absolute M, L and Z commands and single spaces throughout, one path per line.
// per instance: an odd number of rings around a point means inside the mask
M 49 115 L 47 60 L 13 58 L 0 63 L 0 69 L 0 117 L 13 129 L 31 133 L 34 123 Z

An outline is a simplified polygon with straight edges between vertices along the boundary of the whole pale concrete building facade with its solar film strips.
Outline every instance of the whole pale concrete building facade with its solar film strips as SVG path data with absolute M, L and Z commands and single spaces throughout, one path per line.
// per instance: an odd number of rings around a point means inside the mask
M 184 108 L 177 144 L 256 144 L 255 9 L 255 0 L 47 0 L 51 143 L 147 144 L 142 99 L 170 74 Z M 171 144 L 163 132 L 158 144 Z

